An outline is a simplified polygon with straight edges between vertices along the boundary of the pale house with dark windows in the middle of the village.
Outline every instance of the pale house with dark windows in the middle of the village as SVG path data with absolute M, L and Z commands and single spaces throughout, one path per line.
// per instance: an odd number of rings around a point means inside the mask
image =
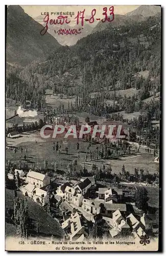
M 98 201 L 83 199 L 81 207 L 84 211 L 89 212 L 89 214 L 100 214 L 100 202 Z

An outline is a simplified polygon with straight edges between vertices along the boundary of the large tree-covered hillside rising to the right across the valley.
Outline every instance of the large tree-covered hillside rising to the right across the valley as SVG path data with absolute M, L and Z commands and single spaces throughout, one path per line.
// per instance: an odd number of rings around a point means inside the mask
M 68 98 L 75 96 L 75 109 L 94 115 L 146 111 L 146 121 L 147 115 L 158 120 L 159 101 L 146 99 L 160 91 L 160 22 L 157 15 L 90 34 L 72 47 L 60 47 L 45 61 L 9 75 L 7 97 L 21 103 L 29 99 L 40 109 L 45 107 L 44 90 L 53 89 Z M 135 93 L 125 97 L 118 93 L 127 89 Z M 106 99 L 113 100 L 113 105 Z

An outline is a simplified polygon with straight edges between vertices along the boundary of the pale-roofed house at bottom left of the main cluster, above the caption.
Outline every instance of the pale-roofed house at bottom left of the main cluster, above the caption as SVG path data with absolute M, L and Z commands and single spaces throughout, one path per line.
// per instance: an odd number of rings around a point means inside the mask
M 62 228 L 72 241 L 83 241 L 88 237 L 88 224 L 81 212 L 70 214 L 62 224 Z

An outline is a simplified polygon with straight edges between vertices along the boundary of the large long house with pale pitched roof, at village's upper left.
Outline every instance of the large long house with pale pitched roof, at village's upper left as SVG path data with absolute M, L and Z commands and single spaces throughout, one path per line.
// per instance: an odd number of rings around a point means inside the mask
M 36 187 L 44 187 L 50 184 L 50 177 L 47 174 L 40 174 L 29 170 L 27 182 L 36 185 Z

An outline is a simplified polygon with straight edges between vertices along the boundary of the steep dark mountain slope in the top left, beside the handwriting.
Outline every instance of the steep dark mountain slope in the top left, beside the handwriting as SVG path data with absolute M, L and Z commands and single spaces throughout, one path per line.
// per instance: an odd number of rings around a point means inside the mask
M 60 45 L 48 32 L 41 36 L 43 26 L 26 14 L 20 6 L 7 9 L 6 59 L 10 63 L 27 65 L 45 58 Z

